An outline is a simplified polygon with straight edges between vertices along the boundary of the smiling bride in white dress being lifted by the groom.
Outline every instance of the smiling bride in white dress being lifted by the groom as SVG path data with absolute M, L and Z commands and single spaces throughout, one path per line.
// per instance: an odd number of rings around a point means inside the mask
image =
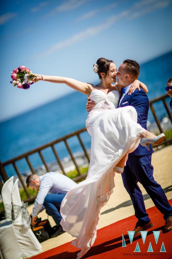
M 115 172 L 122 172 L 127 154 L 133 152 L 140 138 L 151 139 L 151 143 L 161 142 L 162 134 L 157 138 L 137 123 L 134 107 L 117 108 L 121 88 L 116 82 L 117 69 L 112 60 L 100 58 L 94 66 L 100 83 L 83 83 L 72 78 L 34 74 L 33 82 L 39 80 L 52 83 L 65 83 L 69 87 L 85 93 L 96 106 L 89 113 L 86 127 L 91 135 L 91 157 L 88 175 L 85 181 L 70 190 L 61 203 L 60 222 L 64 231 L 76 240 L 73 246 L 81 251 L 81 258 L 96 239 L 100 209 L 107 203 L 115 186 Z M 139 86 L 147 92 L 147 87 L 138 80 L 132 83 L 130 93 Z M 147 139 L 142 144 L 146 145 Z M 153 139 L 153 140 L 152 140 Z

